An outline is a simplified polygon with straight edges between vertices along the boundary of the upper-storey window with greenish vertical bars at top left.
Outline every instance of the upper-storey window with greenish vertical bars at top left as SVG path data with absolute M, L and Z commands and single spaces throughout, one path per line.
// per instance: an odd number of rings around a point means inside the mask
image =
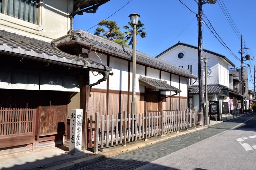
M 40 0 L 0 0 L 0 13 L 37 24 L 39 2 Z

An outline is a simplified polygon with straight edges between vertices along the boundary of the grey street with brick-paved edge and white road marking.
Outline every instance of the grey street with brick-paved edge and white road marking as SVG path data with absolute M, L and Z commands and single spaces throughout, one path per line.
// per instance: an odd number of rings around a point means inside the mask
M 76 169 L 256 169 L 256 114 Z

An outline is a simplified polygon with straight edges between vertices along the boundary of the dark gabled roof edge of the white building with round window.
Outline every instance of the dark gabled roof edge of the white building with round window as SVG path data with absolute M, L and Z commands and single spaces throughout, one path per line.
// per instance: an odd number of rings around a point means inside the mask
M 166 49 L 165 51 L 161 52 L 160 54 L 158 54 L 156 56 L 156 58 L 158 58 L 160 55 L 166 53 L 167 51 L 177 47 L 177 46 L 185 46 L 185 47 L 190 47 L 190 48 L 194 48 L 194 49 L 198 49 L 196 46 L 193 46 L 193 45 L 189 45 L 189 44 L 185 44 L 185 43 L 176 43 L 174 44 L 173 46 L 171 46 L 170 48 Z M 221 57 L 223 58 L 224 60 L 226 60 L 231 66 L 235 67 L 235 65 L 224 55 L 221 55 L 221 54 L 218 54 L 216 52 L 213 52 L 213 51 L 210 51 L 210 50 L 206 50 L 206 49 L 203 49 L 204 52 L 207 52 L 207 53 L 210 53 L 210 54 L 213 54 L 213 55 L 216 55 L 218 57 Z

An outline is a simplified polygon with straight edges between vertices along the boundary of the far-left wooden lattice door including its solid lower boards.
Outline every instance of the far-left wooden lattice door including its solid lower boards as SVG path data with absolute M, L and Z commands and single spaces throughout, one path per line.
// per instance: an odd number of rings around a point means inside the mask
M 33 143 L 33 96 L 31 90 L 0 89 L 0 148 Z

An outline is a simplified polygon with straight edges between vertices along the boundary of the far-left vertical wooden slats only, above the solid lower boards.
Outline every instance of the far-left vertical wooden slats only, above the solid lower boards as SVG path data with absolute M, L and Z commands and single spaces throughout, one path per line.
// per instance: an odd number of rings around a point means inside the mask
M 33 131 L 31 95 L 20 91 L 0 91 L 0 136 L 27 134 Z

